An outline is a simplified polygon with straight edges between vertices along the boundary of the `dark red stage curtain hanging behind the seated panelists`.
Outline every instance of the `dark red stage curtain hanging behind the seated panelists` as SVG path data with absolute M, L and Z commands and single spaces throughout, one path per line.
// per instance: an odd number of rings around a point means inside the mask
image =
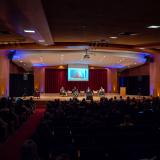
M 45 92 L 59 93 L 61 86 L 66 90 L 72 90 L 76 86 L 79 90 L 86 90 L 89 86 L 98 90 L 101 86 L 107 91 L 107 70 L 89 70 L 89 81 L 71 82 L 67 80 L 67 69 L 46 69 L 45 70 Z

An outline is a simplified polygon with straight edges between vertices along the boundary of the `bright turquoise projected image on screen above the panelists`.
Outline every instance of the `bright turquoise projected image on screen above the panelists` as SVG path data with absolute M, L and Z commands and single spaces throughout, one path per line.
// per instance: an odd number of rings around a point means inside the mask
M 68 67 L 68 81 L 88 81 L 88 67 Z

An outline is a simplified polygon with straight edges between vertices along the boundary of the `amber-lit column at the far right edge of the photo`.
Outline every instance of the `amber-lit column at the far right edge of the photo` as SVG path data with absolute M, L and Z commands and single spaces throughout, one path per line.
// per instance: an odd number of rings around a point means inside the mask
M 154 54 L 154 62 L 150 63 L 150 95 L 160 96 L 160 55 Z

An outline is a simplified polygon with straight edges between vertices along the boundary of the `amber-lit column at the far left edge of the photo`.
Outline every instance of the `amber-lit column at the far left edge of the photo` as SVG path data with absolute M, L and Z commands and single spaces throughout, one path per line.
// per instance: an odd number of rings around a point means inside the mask
M 9 96 L 9 60 L 7 51 L 0 51 L 0 96 Z

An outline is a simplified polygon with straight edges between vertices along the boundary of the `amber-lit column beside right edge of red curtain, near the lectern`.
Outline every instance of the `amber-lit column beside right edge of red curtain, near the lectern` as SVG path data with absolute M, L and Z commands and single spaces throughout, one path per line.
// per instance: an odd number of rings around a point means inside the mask
M 117 93 L 118 89 L 117 69 L 107 69 L 107 88 L 108 93 Z

